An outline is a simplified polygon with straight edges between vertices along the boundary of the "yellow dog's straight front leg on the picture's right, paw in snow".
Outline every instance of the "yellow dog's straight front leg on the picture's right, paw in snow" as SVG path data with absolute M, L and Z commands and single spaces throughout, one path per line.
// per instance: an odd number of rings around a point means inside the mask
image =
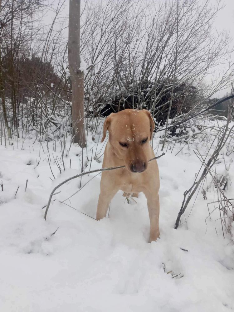
M 150 221 L 150 234 L 149 242 L 156 241 L 160 235 L 159 232 L 159 195 L 158 192 L 149 192 L 147 190 L 144 192 L 147 198 L 147 205 L 149 211 L 149 221 Z

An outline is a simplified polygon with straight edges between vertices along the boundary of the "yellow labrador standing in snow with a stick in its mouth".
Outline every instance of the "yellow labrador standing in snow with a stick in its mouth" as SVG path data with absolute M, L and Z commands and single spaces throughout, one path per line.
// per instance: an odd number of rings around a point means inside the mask
M 159 237 L 159 173 L 154 151 L 150 145 L 154 131 L 154 119 L 147 110 L 122 110 L 105 119 L 103 138 L 109 131 L 109 141 L 104 152 L 103 168 L 125 165 L 111 171 L 103 171 L 96 219 L 106 216 L 110 201 L 119 190 L 137 195 L 143 192 L 147 198 L 150 236 L 149 242 Z

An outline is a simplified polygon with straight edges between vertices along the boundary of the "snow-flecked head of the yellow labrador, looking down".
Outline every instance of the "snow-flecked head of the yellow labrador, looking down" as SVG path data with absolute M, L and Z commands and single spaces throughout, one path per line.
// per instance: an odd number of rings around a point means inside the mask
M 149 144 L 154 131 L 154 119 L 148 110 L 122 110 L 110 114 L 103 126 L 102 142 L 109 131 L 114 153 L 123 159 L 131 172 L 143 172 L 148 166 Z

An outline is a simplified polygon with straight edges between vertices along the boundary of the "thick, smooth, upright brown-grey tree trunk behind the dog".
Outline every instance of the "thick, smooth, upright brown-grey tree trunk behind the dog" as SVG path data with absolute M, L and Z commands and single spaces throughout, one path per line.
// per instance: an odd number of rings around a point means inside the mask
M 84 72 L 80 70 L 80 0 L 70 0 L 68 62 L 72 85 L 73 142 L 85 147 Z

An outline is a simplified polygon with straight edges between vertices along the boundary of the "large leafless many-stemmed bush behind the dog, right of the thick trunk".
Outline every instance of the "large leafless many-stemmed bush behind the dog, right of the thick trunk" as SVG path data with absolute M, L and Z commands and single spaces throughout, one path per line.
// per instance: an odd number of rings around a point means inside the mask
M 147 107 L 157 120 L 163 113 L 164 122 L 173 88 L 172 115 L 200 109 L 232 79 L 231 38 L 213 32 L 220 9 L 221 1 L 209 0 L 86 1 L 80 34 L 82 55 L 91 64 L 85 108 Z M 224 63 L 227 70 L 205 85 L 208 73 Z

